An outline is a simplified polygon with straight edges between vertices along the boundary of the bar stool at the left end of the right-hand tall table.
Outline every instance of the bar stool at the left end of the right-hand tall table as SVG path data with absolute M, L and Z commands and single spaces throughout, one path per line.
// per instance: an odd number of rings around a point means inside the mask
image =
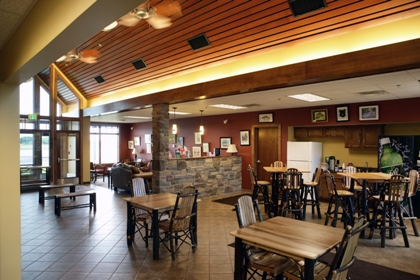
M 322 176 L 325 179 L 328 194 L 330 195 L 324 224 L 327 226 L 328 220 L 332 219 L 331 226 L 333 227 L 336 227 L 338 220 L 344 223 L 344 228 L 346 228 L 348 224 L 352 225 L 354 221 L 354 194 L 346 190 L 337 190 L 334 178 L 329 171 L 324 171 Z M 341 214 L 341 218 L 338 217 L 339 214 Z

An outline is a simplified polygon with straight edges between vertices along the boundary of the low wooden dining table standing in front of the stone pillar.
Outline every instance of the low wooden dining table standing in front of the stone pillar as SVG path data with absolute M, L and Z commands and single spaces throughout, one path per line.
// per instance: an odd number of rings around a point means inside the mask
M 159 259 L 159 212 L 173 209 L 177 195 L 173 193 L 159 193 L 138 197 L 124 198 L 127 201 L 127 246 L 131 246 L 134 239 L 135 219 L 133 207 L 141 208 L 152 216 L 153 259 Z

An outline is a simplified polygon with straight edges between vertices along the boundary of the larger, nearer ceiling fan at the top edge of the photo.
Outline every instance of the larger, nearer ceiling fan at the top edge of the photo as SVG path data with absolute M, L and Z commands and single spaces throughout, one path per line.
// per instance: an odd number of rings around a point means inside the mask
M 137 25 L 142 19 L 146 20 L 153 28 L 162 29 L 172 25 L 171 17 L 181 15 L 181 5 L 177 1 L 163 0 L 155 6 L 141 4 L 102 30 L 109 31 L 118 25 L 132 27 Z

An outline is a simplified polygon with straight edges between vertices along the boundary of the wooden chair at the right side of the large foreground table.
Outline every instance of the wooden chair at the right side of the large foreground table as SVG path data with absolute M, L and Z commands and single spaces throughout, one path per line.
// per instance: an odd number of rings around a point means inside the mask
M 356 261 L 354 252 L 359 242 L 360 232 L 365 230 L 368 225 L 369 223 L 364 217 L 360 217 L 354 227 L 348 225 L 332 263 L 318 261 L 315 266 L 314 279 L 350 279 L 349 268 Z M 284 276 L 287 279 L 305 279 L 303 271 L 304 267 L 301 263 L 295 263 L 292 268 L 284 272 Z

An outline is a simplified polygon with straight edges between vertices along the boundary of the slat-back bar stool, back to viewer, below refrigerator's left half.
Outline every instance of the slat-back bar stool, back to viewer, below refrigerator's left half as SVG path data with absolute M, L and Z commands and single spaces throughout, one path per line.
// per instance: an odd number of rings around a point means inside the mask
M 281 213 L 284 217 L 288 212 L 294 213 L 295 219 L 303 219 L 302 194 L 303 178 L 302 173 L 296 168 L 289 168 L 284 174 L 282 186 L 282 207 Z

